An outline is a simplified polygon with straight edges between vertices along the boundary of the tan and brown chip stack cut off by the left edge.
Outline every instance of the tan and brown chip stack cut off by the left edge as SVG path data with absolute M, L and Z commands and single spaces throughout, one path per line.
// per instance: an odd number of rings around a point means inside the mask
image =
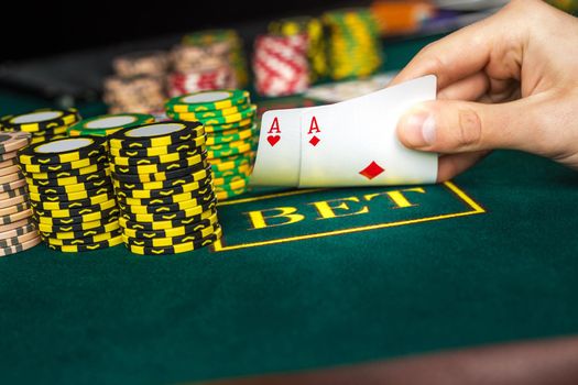
M 41 241 L 17 157 L 17 151 L 29 143 L 29 133 L 0 133 L 0 256 L 33 248 Z

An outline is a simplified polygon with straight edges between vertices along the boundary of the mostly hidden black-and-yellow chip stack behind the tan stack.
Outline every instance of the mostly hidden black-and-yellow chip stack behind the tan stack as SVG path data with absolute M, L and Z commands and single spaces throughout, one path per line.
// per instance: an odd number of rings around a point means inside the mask
M 30 132 L 31 144 L 66 138 L 66 130 L 80 120 L 75 108 L 40 109 L 0 119 L 0 130 Z

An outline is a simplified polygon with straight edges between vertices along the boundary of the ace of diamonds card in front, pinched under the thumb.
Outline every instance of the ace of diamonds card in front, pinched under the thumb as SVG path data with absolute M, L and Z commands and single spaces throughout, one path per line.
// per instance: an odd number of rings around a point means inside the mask
M 435 76 L 302 113 L 299 187 L 435 183 L 437 154 L 403 146 L 399 119 L 436 98 Z

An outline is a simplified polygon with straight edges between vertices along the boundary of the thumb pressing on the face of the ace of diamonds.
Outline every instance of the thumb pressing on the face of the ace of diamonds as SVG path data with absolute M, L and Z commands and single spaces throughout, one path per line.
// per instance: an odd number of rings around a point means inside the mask
M 484 105 L 456 100 L 427 101 L 397 122 L 397 136 L 410 148 L 461 153 L 491 148 L 524 150 L 535 124 L 521 100 Z

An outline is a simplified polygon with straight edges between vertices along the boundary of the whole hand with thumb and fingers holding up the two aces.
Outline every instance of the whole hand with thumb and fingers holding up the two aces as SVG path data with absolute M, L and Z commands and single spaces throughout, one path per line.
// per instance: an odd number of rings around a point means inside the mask
M 438 99 L 397 123 L 407 147 L 437 152 L 438 182 L 493 148 L 513 148 L 578 169 L 578 19 L 539 0 L 424 47 L 391 85 L 434 74 Z

